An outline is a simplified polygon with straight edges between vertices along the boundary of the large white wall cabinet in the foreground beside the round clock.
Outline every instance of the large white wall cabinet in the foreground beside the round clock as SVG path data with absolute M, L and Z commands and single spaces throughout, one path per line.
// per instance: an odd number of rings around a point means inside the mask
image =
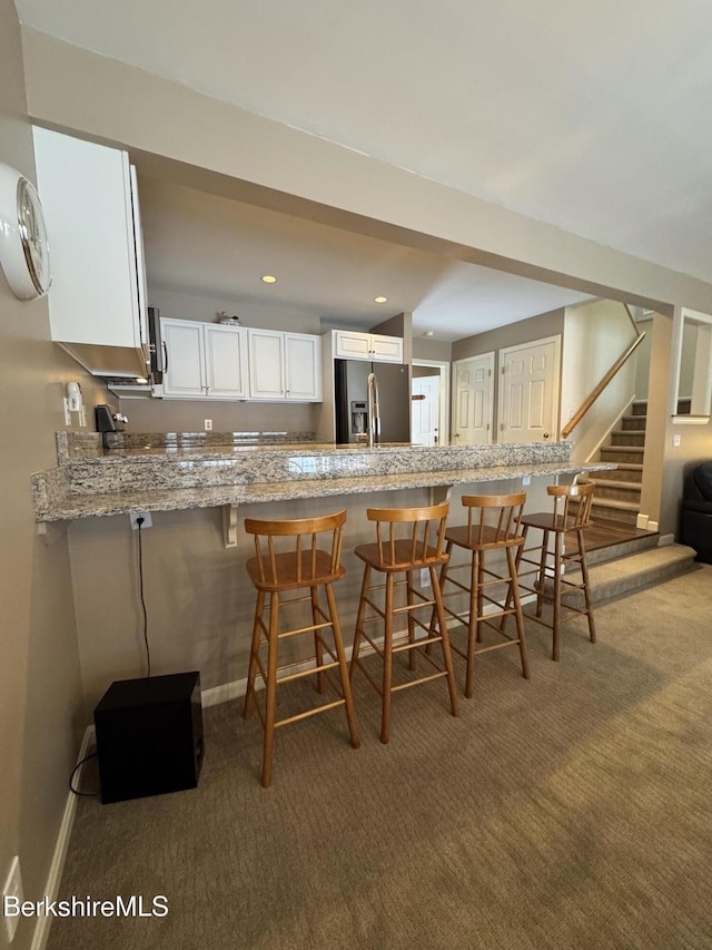
M 38 190 L 50 242 L 52 340 L 90 372 L 145 370 L 146 283 L 138 196 L 128 155 L 33 128 Z M 81 347 L 85 347 L 83 350 Z M 107 353 L 100 347 L 122 347 Z M 132 351 L 132 352 L 131 352 Z M 83 354 L 83 359 L 78 354 Z M 137 368 L 130 361 L 137 361 Z M 108 365 L 112 359 L 119 360 Z M 118 366 L 118 369 L 117 369 Z

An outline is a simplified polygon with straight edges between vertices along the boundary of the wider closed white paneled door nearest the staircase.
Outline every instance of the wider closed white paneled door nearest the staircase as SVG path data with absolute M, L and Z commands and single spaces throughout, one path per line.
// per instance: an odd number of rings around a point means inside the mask
M 557 438 L 560 336 L 500 350 L 500 441 Z

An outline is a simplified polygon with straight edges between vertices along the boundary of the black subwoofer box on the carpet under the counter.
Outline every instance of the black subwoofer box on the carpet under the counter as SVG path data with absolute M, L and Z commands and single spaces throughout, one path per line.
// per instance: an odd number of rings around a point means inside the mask
M 204 753 L 199 673 L 119 679 L 93 722 L 105 805 L 197 786 Z

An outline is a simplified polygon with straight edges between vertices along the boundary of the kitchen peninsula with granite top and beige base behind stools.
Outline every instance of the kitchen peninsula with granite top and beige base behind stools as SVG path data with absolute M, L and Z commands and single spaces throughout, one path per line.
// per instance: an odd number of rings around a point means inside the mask
M 517 491 L 531 479 L 527 508 L 543 510 L 546 486 L 583 468 L 570 461 L 565 442 L 368 449 L 296 437 L 247 444 L 233 433 L 220 443 L 219 433 L 208 434 L 123 433 L 123 448 L 103 450 L 100 435 L 60 433 L 58 464 L 33 476 L 48 543 L 63 531 L 69 537 L 88 709 L 112 680 L 145 674 L 140 584 L 152 672 L 199 669 L 206 704 L 241 694 L 255 605 L 245 569 L 254 541 L 240 529 L 246 517 L 346 510 L 346 577 L 336 596 L 348 647 L 363 576 L 353 551 L 374 537 L 366 508 L 423 506 L 449 492 L 449 520 L 463 523 L 463 492 Z M 140 570 L 139 532 L 126 517 L 139 511 L 152 515 L 150 530 L 140 532 Z

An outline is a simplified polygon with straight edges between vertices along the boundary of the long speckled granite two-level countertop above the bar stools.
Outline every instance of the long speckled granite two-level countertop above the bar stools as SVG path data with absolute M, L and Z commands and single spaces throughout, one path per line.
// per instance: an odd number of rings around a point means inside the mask
M 174 439 L 172 444 L 161 445 L 158 437 L 136 437 L 134 444 L 102 450 L 96 433 L 82 435 L 78 444 L 68 434 L 72 433 L 58 433 L 59 464 L 32 476 L 40 522 L 615 468 L 571 462 L 567 442 L 369 448 L 298 440 L 196 445 Z

